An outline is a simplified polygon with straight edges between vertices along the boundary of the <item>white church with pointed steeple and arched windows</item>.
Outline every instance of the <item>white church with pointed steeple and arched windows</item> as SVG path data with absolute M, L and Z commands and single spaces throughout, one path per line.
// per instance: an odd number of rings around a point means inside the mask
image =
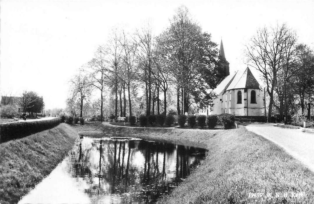
M 263 116 L 264 92 L 253 76 L 250 68 L 244 72 L 236 71 L 230 74 L 229 62 L 225 58 L 224 46 L 221 40 L 219 51 L 223 76 L 213 91 L 215 98 L 202 115 L 230 113 L 235 116 Z

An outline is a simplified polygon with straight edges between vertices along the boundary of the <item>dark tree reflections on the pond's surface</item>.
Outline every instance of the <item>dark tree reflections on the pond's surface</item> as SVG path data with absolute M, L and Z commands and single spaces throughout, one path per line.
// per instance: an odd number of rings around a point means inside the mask
M 69 172 L 92 203 L 154 202 L 199 164 L 206 150 L 122 138 L 78 140 Z

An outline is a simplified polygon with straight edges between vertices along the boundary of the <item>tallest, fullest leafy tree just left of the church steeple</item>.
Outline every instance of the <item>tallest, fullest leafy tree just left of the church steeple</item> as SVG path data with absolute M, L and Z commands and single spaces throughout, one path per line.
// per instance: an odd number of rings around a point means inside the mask
M 193 102 L 201 102 L 199 92 L 203 94 L 202 98 L 211 98 L 206 90 L 214 88 L 218 51 L 210 38 L 209 34 L 202 33 L 202 28 L 184 6 L 177 9 L 170 26 L 158 37 L 161 53 L 168 60 L 176 82 L 178 114 L 188 112 Z M 180 96 L 182 106 L 184 104 L 182 110 Z

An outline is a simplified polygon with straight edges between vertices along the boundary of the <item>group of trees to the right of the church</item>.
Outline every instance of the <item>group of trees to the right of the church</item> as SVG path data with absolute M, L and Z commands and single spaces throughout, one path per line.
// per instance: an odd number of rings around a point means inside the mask
M 310 119 L 314 102 L 314 55 L 286 24 L 264 27 L 246 45 L 247 62 L 263 76 L 269 95 L 268 122 L 273 108 L 287 124 L 288 114 L 301 109 Z

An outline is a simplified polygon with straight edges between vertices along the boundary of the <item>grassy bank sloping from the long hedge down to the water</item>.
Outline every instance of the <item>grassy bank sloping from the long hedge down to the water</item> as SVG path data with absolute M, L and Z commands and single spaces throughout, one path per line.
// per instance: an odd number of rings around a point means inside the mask
M 0 145 L 0 203 L 17 203 L 67 155 L 77 133 L 60 124 Z

